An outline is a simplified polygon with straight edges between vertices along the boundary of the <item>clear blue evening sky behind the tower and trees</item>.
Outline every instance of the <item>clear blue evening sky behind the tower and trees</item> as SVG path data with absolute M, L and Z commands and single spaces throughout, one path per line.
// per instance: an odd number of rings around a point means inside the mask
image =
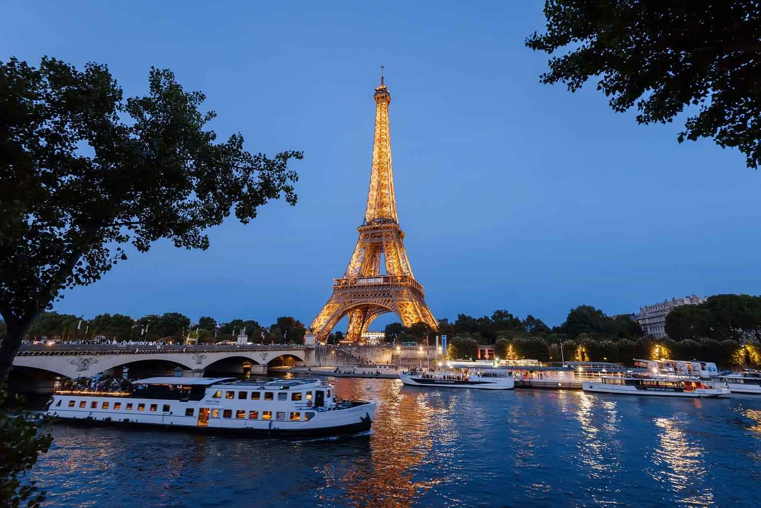
M 308 324 L 357 239 L 380 65 L 400 223 L 437 318 L 506 308 L 552 325 L 581 304 L 616 314 L 761 292 L 761 174 L 710 140 L 678 144 L 680 122 L 613 113 L 594 83 L 541 85 L 548 56 L 524 39 L 543 30 L 542 6 L 3 2 L 0 59 L 107 63 L 126 96 L 168 67 L 205 92 L 222 139 L 304 151 L 297 206 L 228 220 L 208 251 L 160 241 L 56 310 Z

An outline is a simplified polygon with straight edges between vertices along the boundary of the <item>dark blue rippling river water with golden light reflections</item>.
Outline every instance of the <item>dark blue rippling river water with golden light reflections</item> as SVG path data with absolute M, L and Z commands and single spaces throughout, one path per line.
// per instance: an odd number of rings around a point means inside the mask
M 342 398 L 368 387 L 379 407 L 366 436 L 56 423 L 33 477 L 46 506 L 759 506 L 761 398 L 336 379 Z

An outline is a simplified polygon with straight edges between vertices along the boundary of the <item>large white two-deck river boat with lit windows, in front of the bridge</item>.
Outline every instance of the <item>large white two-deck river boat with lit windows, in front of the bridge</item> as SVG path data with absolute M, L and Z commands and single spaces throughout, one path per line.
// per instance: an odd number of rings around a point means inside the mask
M 369 430 L 375 402 L 339 401 L 314 379 L 157 377 L 126 391 L 58 390 L 46 414 L 63 420 L 310 437 Z

